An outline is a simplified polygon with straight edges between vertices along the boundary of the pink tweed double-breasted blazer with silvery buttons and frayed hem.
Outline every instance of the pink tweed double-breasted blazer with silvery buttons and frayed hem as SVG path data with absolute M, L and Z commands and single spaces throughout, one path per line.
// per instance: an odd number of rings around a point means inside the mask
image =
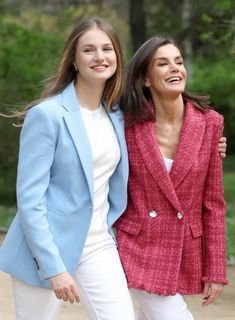
M 126 130 L 128 206 L 115 228 L 129 287 L 174 295 L 201 293 L 208 281 L 227 283 L 222 130 L 221 115 L 187 103 L 170 173 L 154 122 Z

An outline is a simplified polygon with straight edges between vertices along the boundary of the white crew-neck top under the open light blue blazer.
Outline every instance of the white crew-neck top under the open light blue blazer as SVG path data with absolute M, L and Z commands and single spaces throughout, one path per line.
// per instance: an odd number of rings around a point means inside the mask
M 111 238 L 107 232 L 109 178 L 120 160 L 120 148 L 113 125 L 102 105 L 96 110 L 81 107 L 81 114 L 93 160 L 93 215 L 85 243 L 85 246 L 90 246 Z

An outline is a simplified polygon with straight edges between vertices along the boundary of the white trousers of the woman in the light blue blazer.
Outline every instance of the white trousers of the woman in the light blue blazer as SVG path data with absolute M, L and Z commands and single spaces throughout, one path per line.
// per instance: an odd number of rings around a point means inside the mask
M 16 320 L 58 318 L 60 300 L 53 290 L 12 280 Z M 131 296 L 113 239 L 85 248 L 75 281 L 90 320 L 134 320 Z M 74 319 L 79 319 L 79 314 Z

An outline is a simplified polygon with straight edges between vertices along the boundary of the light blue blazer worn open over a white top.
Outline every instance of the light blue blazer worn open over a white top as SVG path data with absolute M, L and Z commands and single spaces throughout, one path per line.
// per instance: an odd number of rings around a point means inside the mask
M 109 181 L 111 234 L 126 207 L 128 178 L 124 119 L 116 109 L 108 112 L 121 151 Z M 75 273 L 92 217 L 92 172 L 89 140 L 71 83 L 27 112 L 20 137 L 18 212 L 0 248 L 0 270 L 41 287 L 50 287 L 51 276 Z

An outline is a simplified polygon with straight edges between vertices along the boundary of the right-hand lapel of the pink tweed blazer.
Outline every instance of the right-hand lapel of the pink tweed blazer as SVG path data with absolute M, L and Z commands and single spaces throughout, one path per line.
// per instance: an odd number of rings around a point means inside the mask
M 186 104 L 184 123 L 170 178 L 176 189 L 192 167 L 199 152 L 205 130 L 201 111 L 195 109 L 190 102 Z

